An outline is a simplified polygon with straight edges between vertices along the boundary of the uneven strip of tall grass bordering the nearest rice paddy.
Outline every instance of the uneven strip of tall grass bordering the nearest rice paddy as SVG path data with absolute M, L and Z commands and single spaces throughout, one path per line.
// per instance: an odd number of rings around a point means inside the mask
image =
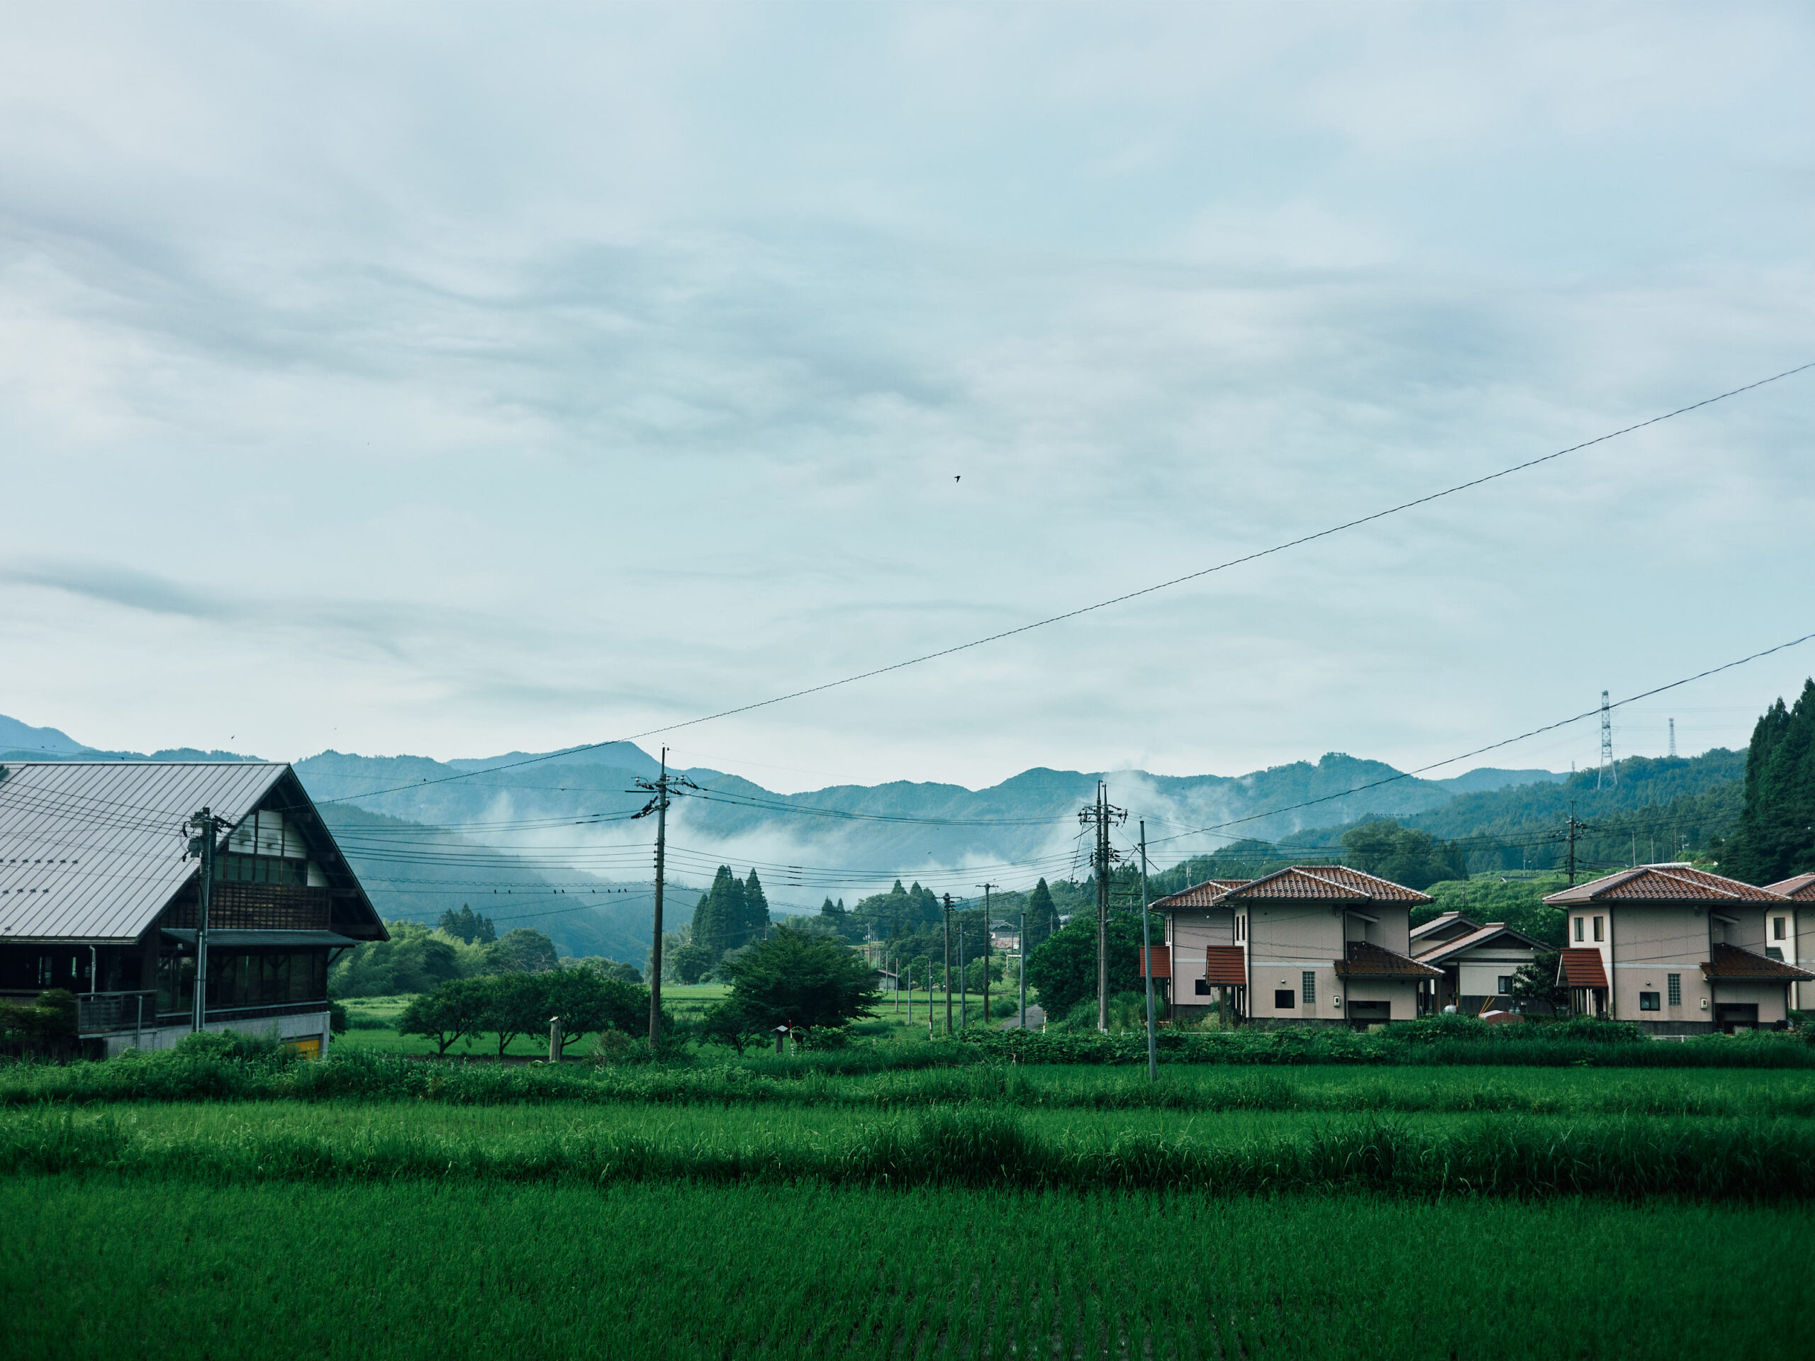
M 232 1136 L 151 1136 L 111 1114 L 0 1116 L 0 1174 L 107 1172 L 167 1183 L 623 1181 L 858 1183 L 1027 1190 L 1254 1194 L 1361 1190 L 1398 1196 L 1815 1198 L 1815 1131 L 1795 1121 L 1632 1120 L 1592 1131 L 1519 1118 L 1463 1129 L 1390 1120 L 1211 1143 L 1189 1136 L 1045 1138 L 1013 1112 L 940 1109 L 804 1143 L 628 1131 L 548 1132 L 506 1150 L 417 1132 L 323 1138 L 285 1125 Z

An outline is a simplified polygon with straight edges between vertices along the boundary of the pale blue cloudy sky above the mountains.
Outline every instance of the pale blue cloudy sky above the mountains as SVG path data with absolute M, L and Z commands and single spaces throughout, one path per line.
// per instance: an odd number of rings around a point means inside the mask
M 1811 67 L 1793 4 L 15 5 L 0 713 L 652 733 L 1815 361 Z M 666 740 L 777 789 L 1443 760 L 1815 632 L 1811 414 Z

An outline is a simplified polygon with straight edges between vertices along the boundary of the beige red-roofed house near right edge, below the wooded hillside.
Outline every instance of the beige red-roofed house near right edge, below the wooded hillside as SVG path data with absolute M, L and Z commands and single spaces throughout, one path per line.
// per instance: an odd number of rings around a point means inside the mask
M 1690 864 L 1621 869 L 1545 902 L 1568 913 L 1557 982 L 1574 1014 L 1653 1034 L 1777 1029 L 1791 985 L 1815 980 L 1786 956 L 1791 898 Z

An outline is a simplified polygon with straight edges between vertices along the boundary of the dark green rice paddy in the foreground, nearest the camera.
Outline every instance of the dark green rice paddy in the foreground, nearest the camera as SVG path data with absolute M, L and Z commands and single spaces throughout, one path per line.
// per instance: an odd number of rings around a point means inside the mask
M 33 1357 L 1768 1357 L 1808 1296 L 1804 1207 L 80 1176 L 0 1221 Z

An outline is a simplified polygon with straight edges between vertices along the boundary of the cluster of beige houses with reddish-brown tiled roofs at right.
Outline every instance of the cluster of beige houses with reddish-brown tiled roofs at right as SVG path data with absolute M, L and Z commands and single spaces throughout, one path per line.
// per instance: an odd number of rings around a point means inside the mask
M 1637 866 L 1554 893 L 1568 942 L 1557 985 L 1572 1014 L 1652 1034 L 1775 1029 L 1815 1005 L 1815 875 L 1755 887 L 1688 864 Z M 1209 880 L 1158 900 L 1167 980 L 1182 1020 L 1367 1027 L 1443 1011 L 1516 1016 L 1514 974 L 1548 953 L 1505 922 L 1443 913 L 1432 898 L 1349 866 L 1290 866 Z

